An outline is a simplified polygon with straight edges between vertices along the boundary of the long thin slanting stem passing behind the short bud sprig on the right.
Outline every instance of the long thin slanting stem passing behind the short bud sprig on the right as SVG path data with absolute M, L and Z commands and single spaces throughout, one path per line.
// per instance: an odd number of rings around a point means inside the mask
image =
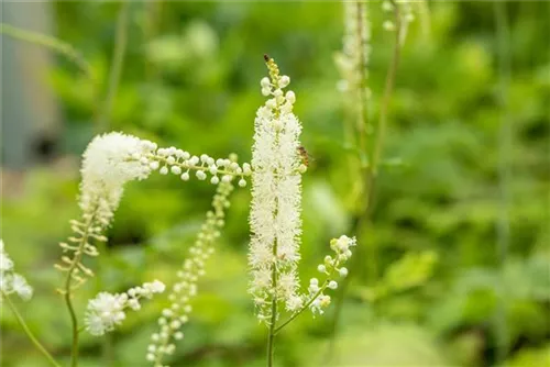
M 363 227 L 364 222 L 369 222 L 371 218 L 371 212 L 373 209 L 373 201 L 375 197 L 375 186 L 376 186 L 376 179 L 378 177 L 378 165 L 380 160 L 383 154 L 383 148 L 384 148 L 384 140 L 385 140 L 385 131 L 386 131 L 386 125 L 387 125 L 387 113 L 389 110 L 389 102 L 392 100 L 393 96 L 393 90 L 394 90 L 394 85 L 395 85 L 395 78 L 397 74 L 397 68 L 399 65 L 399 57 L 400 57 L 400 40 L 402 40 L 402 19 L 399 14 L 399 8 L 397 5 L 394 5 L 394 15 L 395 15 L 395 41 L 394 41 L 394 49 L 393 49 L 393 56 L 392 60 L 389 64 L 388 71 L 386 74 L 386 82 L 384 87 L 384 94 L 382 99 L 382 104 L 381 104 L 381 111 L 380 111 L 380 118 L 378 118 L 378 123 L 377 123 L 377 129 L 376 129 L 376 135 L 375 135 L 375 142 L 374 142 L 374 148 L 371 154 L 371 162 L 366 167 L 364 167 L 364 179 L 363 179 L 363 194 L 365 196 L 365 201 L 363 202 L 363 208 L 362 210 L 359 211 L 359 213 L 353 218 L 352 221 L 352 233 L 355 233 L 358 237 L 360 236 L 360 231 Z M 366 73 L 366 70 L 362 69 L 362 73 Z M 364 101 L 363 101 L 364 102 Z M 373 251 L 374 253 L 374 251 Z M 374 254 L 371 254 L 372 258 L 375 258 Z M 334 305 L 334 315 L 332 318 L 332 323 L 330 326 L 330 334 L 331 334 L 331 340 L 330 340 L 330 346 L 329 346 L 329 358 L 327 360 L 330 360 L 330 357 L 333 353 L 334 349 L 334 341 L 336 341 L 336 334 L 338 332 L 338 325 L 341 319 L 342 314 L 342 309 L 343 309 L 343 301 L 345 299 L 345 293 L 348 291 L 350 280 L 352 276 L 355 274 L 354 269 L 356 268 L 356 259 L 352 263 L 352 270 L 350 271 L 350 275 L 342 281 L 341 285 L 341 291 L 337 296 L 336 300 L 336 305 Z

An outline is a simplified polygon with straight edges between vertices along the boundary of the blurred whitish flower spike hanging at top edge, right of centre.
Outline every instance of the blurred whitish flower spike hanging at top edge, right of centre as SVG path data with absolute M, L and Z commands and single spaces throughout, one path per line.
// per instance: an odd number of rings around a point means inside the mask
M 336 55 L 336 63 L 342 79 L 338 84 L 341 91 L 356 93 L 363 78 L 367 77 L 371 58 L 371 22 L 367 4 L 361 1 L 343 1 L 344 35 L 342 51 Z M 355 98 L 351 101 L 358 104 Z

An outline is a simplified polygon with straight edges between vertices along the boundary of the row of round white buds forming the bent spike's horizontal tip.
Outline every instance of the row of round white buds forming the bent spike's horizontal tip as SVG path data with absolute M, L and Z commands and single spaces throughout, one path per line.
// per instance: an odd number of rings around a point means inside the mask
M 210 175 L 209 180 L 212 185 L 218 185 L 220 181 L 229 182 L 233 177 L 240 177 L 239 186 L 245 187 L 245 177 L 252 174 L 248 163 L 240 166 L 235 159 L 215 159 L 207 154 L 196 156 L 173 146 L 157 149 L 150 154 L 147 159 L 151 169 L 158 169 L 161 175 L 170 173 L 184 181 L 189 180 L 190 171 L 194 170 L 199 180 L 206 180 Z

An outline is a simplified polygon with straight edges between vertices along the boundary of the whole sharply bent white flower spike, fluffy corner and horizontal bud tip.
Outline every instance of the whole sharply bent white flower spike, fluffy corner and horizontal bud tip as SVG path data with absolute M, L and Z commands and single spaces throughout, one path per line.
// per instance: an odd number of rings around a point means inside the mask
M 122 198 L 124 185 L 132 180 L 147 178 L 152 171 L 172 174 L 188 180 L 189 170 L 195 170 L 198 179 L 211 175 L 210 182 L 228 182 L 240 177 L 239 185 L 246 186 L 245 177 L 251 175 L 251 166 L 240 166 L 231 159 L 215 159 L 206 154 L 199 156 L 176 147 L 158 148 L 156 143 L 140 140 L 122 133 L 108 133 L 96 136 L 84 153 L 79 205 L 82 210 L 80 221 L 70 221 L 75 233 L 68 243 L 61 243 L 64 253 L 61 264 L 69 282 L 62 293 L 80 286 L 94 273 L 81 263 L 82 255 L 97 256 L 99 253 L 92 240 L 106 242 L 103 232 L 112 222 L 114 211 Z M 220 179 L 221 177 L 221 179 Z

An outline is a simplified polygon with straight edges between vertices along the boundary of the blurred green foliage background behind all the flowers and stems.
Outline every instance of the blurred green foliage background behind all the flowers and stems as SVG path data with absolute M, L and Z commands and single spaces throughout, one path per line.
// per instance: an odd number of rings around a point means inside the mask
M 304 179 L 302 279 L 314 275 L 329 238 L 351 226 L 352 153 L 343 144 L 344 101 L 333 63 L 343 30 L 340 2 L 132 2 L 111 113 L 103 101 L 120 2 L 2 7 L 2 22 L 68 42 L 95 76 L 90 80 L 58 54 L 2 36 L 1 236 L 16 270 L 35 286 L 32 302 L 18 305 L 64 363 L 69 319 L 54 292 L 62 277 L 52 265 L 68 221 L 78 215 L 79 155 L 95 133 L 123 131 L 195 154 L 235 152 L 249 160 L 268 53 L 292 77 L 304 145 L 315 158 Z M 513 65 L 507 205 L 498 189 L 493 4 L 433 1 L 429 8 L 429 24 L 415 21 L 403 52 L 387 165 L 332 359 L 329 311 L 316 320 L 306 314 L 279 335 L 277 366 L 504 366 L 504 359 L 513 367 L 550 366 L 550 3 L 506 3 Z M 382 31 L 387 15 L 380 3 L 370 10 L 375 118 L 393 35 Z M 100 274 L 78 293 L 79 314 L 100 289 L 121 291 L 153 278 L 169 285 L 213 191 L 175 176 L 129 185 L 109 248 L 91 265 Z M 266 331 L 246 293 L 249 202 L 248 189 L 234 192 L 173 366 L 265 364 Z M 510 232 L 501 266 L 504 208 Z M 145 346 L 165 303 L 160 298 L 129 313 L 107 340 L 85 335 L 81 366 L 146 366 Z M 2 366 L 46 365 L 8 310 L 1 331 Z

